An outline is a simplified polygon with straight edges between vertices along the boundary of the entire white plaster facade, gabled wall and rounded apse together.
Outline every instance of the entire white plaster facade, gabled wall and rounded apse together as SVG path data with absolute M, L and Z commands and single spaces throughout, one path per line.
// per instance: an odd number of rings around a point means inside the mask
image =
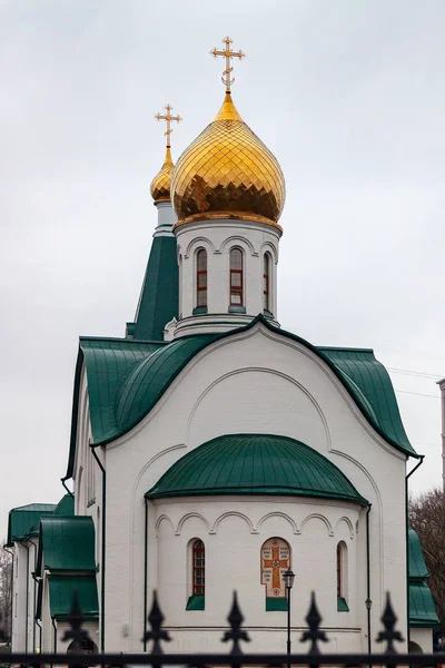
M 83 425 L 79 434 L 83 435 L 79 436 L 75 464 L 77 512 L 91 514 L 100 532 L 99 469 L 93 503 L 87 503 L 79 475 L 91 463 L 97 466 L 89 459 L 86 390 L 83 377 L 79 411 Z M 372 638 L 379 628 L 387 590 L 406 636 L 406 456 L 369 426 L 343 384 L 314 352 L 258 323 L 198 353 L 132 431 L 101 449 L 107 470 L 107 649 L 141 649 L 145 493 L 186 452 L 227 433 L 297 439 L 347 475 L 372 503 Z M 265 611 L 259 582 L 260 546 L 273 536 L 287 540 L 293 552 L 295 629 L 304 625 L 314 589 L 336 648 L 367 648 L 366 510 L 299 498 L 204 497 L 148 502 L 148 605 L 152 591 L 159 590 L 166 625 L 175 638 L 171 649 L 217 649 L 234 589 L 239 592 L 245 625 L 256 648 L 267 645 L 269 650 L 283 649 L 285 612 Z M 204 611 L 186 610 L 187 543 L 191 538 L 204 540 L 208 550 Z M 338 540 L 348 546 L 349 612 L 337 612 L 335 607 Z M 100 548 L 97 554 L 100 569 Z M 202 628 L 206 633 L 200 632 Z M 295 630 L 293 640 L 297 638 Z

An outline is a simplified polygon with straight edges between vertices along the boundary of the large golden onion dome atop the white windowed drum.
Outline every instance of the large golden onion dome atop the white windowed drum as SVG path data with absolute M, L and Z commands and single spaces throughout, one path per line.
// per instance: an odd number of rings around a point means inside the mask
M 239 116 L 230 92 L 180 156 L 171 177 L 177 225 L 240 218 L 279 227 L 285 178 L 275 156 Z

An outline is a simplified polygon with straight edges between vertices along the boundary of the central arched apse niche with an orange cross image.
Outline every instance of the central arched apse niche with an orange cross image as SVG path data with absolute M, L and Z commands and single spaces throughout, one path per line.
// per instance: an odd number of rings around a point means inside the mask
M 266 611 L 287 610 L 283 573 L 290 568 L 290 548 L 283 538 L 269 538 L 261 547 L 261 584 L 266 589 Z

